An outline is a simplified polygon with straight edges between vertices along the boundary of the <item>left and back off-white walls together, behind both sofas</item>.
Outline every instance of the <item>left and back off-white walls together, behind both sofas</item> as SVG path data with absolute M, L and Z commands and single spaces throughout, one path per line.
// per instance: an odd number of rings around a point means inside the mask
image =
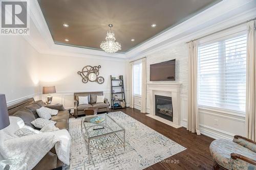
M 0 93 L 6 94 L 8 105 L 32 97 L 45 100 L 45 95 L 41 95 L 42 86 L 48 85 L 56 86 L 53 102 L 62 103 L 66 108 L 73 107 L 75 91 L 103 91 L 111 100 L 110 75 L 117 78 L 123 75 L 126 103 L 129 105 L 125 76 L 127 62 L 124 60 L 40 54 L 22 36 L 1 36 L 0 46 Z M 99 76 L 104 78 L 103 84 L 82 83 L 77 71 L 86 65 L 101 65 Z

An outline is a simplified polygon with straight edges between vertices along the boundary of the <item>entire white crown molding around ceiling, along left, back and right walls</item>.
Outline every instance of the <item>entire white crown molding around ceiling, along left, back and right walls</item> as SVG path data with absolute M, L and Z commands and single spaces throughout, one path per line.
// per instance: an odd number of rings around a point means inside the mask
M 227 28 L 256 16 L 255 0 L 223 0 L 166 30 L 133 50 L 109 54 L 99 50 L 55 44 L 37 1 L 30 3 L 30 35 L 24 38 L 41 54 L 132 61 L 169 46 Z

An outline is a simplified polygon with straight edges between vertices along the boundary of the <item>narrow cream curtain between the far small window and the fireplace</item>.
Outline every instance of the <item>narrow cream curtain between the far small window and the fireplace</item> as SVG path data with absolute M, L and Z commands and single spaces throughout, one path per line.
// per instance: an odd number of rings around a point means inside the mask
M 146 58 L 142 59 L 141 71 L 141 113 L 146 113 Z

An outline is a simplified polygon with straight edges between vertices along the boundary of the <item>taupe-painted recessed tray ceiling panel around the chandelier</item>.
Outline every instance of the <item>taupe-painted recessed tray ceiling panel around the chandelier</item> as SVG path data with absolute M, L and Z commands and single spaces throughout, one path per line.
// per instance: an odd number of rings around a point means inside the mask
M 109 23 L 121 53 L 181 23 L 220 0 L 38 0 L 53 40 L 100 50 Z M 63 23 L 69 25 L 63 27 Z M 155 23 L 157 26 L 152 28 Z M 195 23 L 196 24 L 196 23 Z M 65 39 L 69 39 L 68 42 Z M 135 39 L 135 41 L 131 41 Z

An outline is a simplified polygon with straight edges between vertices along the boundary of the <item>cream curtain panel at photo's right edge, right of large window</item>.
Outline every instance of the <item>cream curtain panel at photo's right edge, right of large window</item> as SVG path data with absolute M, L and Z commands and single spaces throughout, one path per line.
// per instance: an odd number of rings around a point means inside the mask
M 256 141 L 256 37 L 255 20 L 247 23 L 246 135 Z

